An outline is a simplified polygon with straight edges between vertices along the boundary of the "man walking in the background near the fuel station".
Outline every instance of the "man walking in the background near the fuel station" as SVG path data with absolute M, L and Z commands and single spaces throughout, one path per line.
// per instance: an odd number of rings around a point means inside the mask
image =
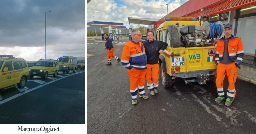
M 117 64 L 121 61 L 121 59 L 119 59 L 118 57 L 116 57 L 114 55 L 114 50 L 115 48 L 113 47 L 113 44 L 112 44 L 112 41 L 111 39 L 109 38 L 108 34 L 104 34 L 104 37 L 106 39 L 106 43 L 105 43 L 105 48 L 104 50 L 108 50 L 108 55 L 107 55 L 107 58 L 108 58 L 108 64 L 106 64 L 107 66 L 108 65 L 112 65 L 111 63 L 111 58 L 115 58 L 117 60 Z

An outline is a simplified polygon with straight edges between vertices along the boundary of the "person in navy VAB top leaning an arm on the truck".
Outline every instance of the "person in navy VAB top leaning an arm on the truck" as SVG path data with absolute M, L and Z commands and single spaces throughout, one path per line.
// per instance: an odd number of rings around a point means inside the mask
M 147 54 L 147 86 L 150 91 L 150 95 L 155 95 L 158 93 L 158 79 L 159 79 L 159 54 L 163 54 L 163 51 L 167 48 L 167 43 L 162 41 L 154 40 L 154 32 L 147 32 L 147 42 L 144 42 L 143 45 Z M 152 81 L 153 79 L 153 81 Z

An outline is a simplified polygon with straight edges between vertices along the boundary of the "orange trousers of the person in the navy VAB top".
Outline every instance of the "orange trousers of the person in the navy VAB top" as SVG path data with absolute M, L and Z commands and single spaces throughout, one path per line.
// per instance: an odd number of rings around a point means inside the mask
M 159 79 L 159 64 L 147 64 L 147 86 L 149 90 L 157 89 Z M 153 79 L 153 81 L 152 81 Z

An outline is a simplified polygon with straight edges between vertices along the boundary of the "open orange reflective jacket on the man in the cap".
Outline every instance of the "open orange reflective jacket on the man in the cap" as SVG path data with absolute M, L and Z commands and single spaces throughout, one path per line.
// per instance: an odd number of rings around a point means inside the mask
M 224 52 L 225 36 L 217 41 L 215 61 L 220 61 Z M 241 38 L 232 36 L 228 42 L 228 53 L 238 68 L 243 61 L 244 49 Z

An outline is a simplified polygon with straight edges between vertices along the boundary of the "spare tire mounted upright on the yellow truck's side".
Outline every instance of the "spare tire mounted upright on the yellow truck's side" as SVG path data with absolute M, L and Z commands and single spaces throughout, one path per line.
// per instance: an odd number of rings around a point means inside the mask
M 167 26 L 167 32 L 165 34 L 165 42 L 171 48 L 180 47 L 179 32 L 178 32 L 178 29 L 175 25 Z

